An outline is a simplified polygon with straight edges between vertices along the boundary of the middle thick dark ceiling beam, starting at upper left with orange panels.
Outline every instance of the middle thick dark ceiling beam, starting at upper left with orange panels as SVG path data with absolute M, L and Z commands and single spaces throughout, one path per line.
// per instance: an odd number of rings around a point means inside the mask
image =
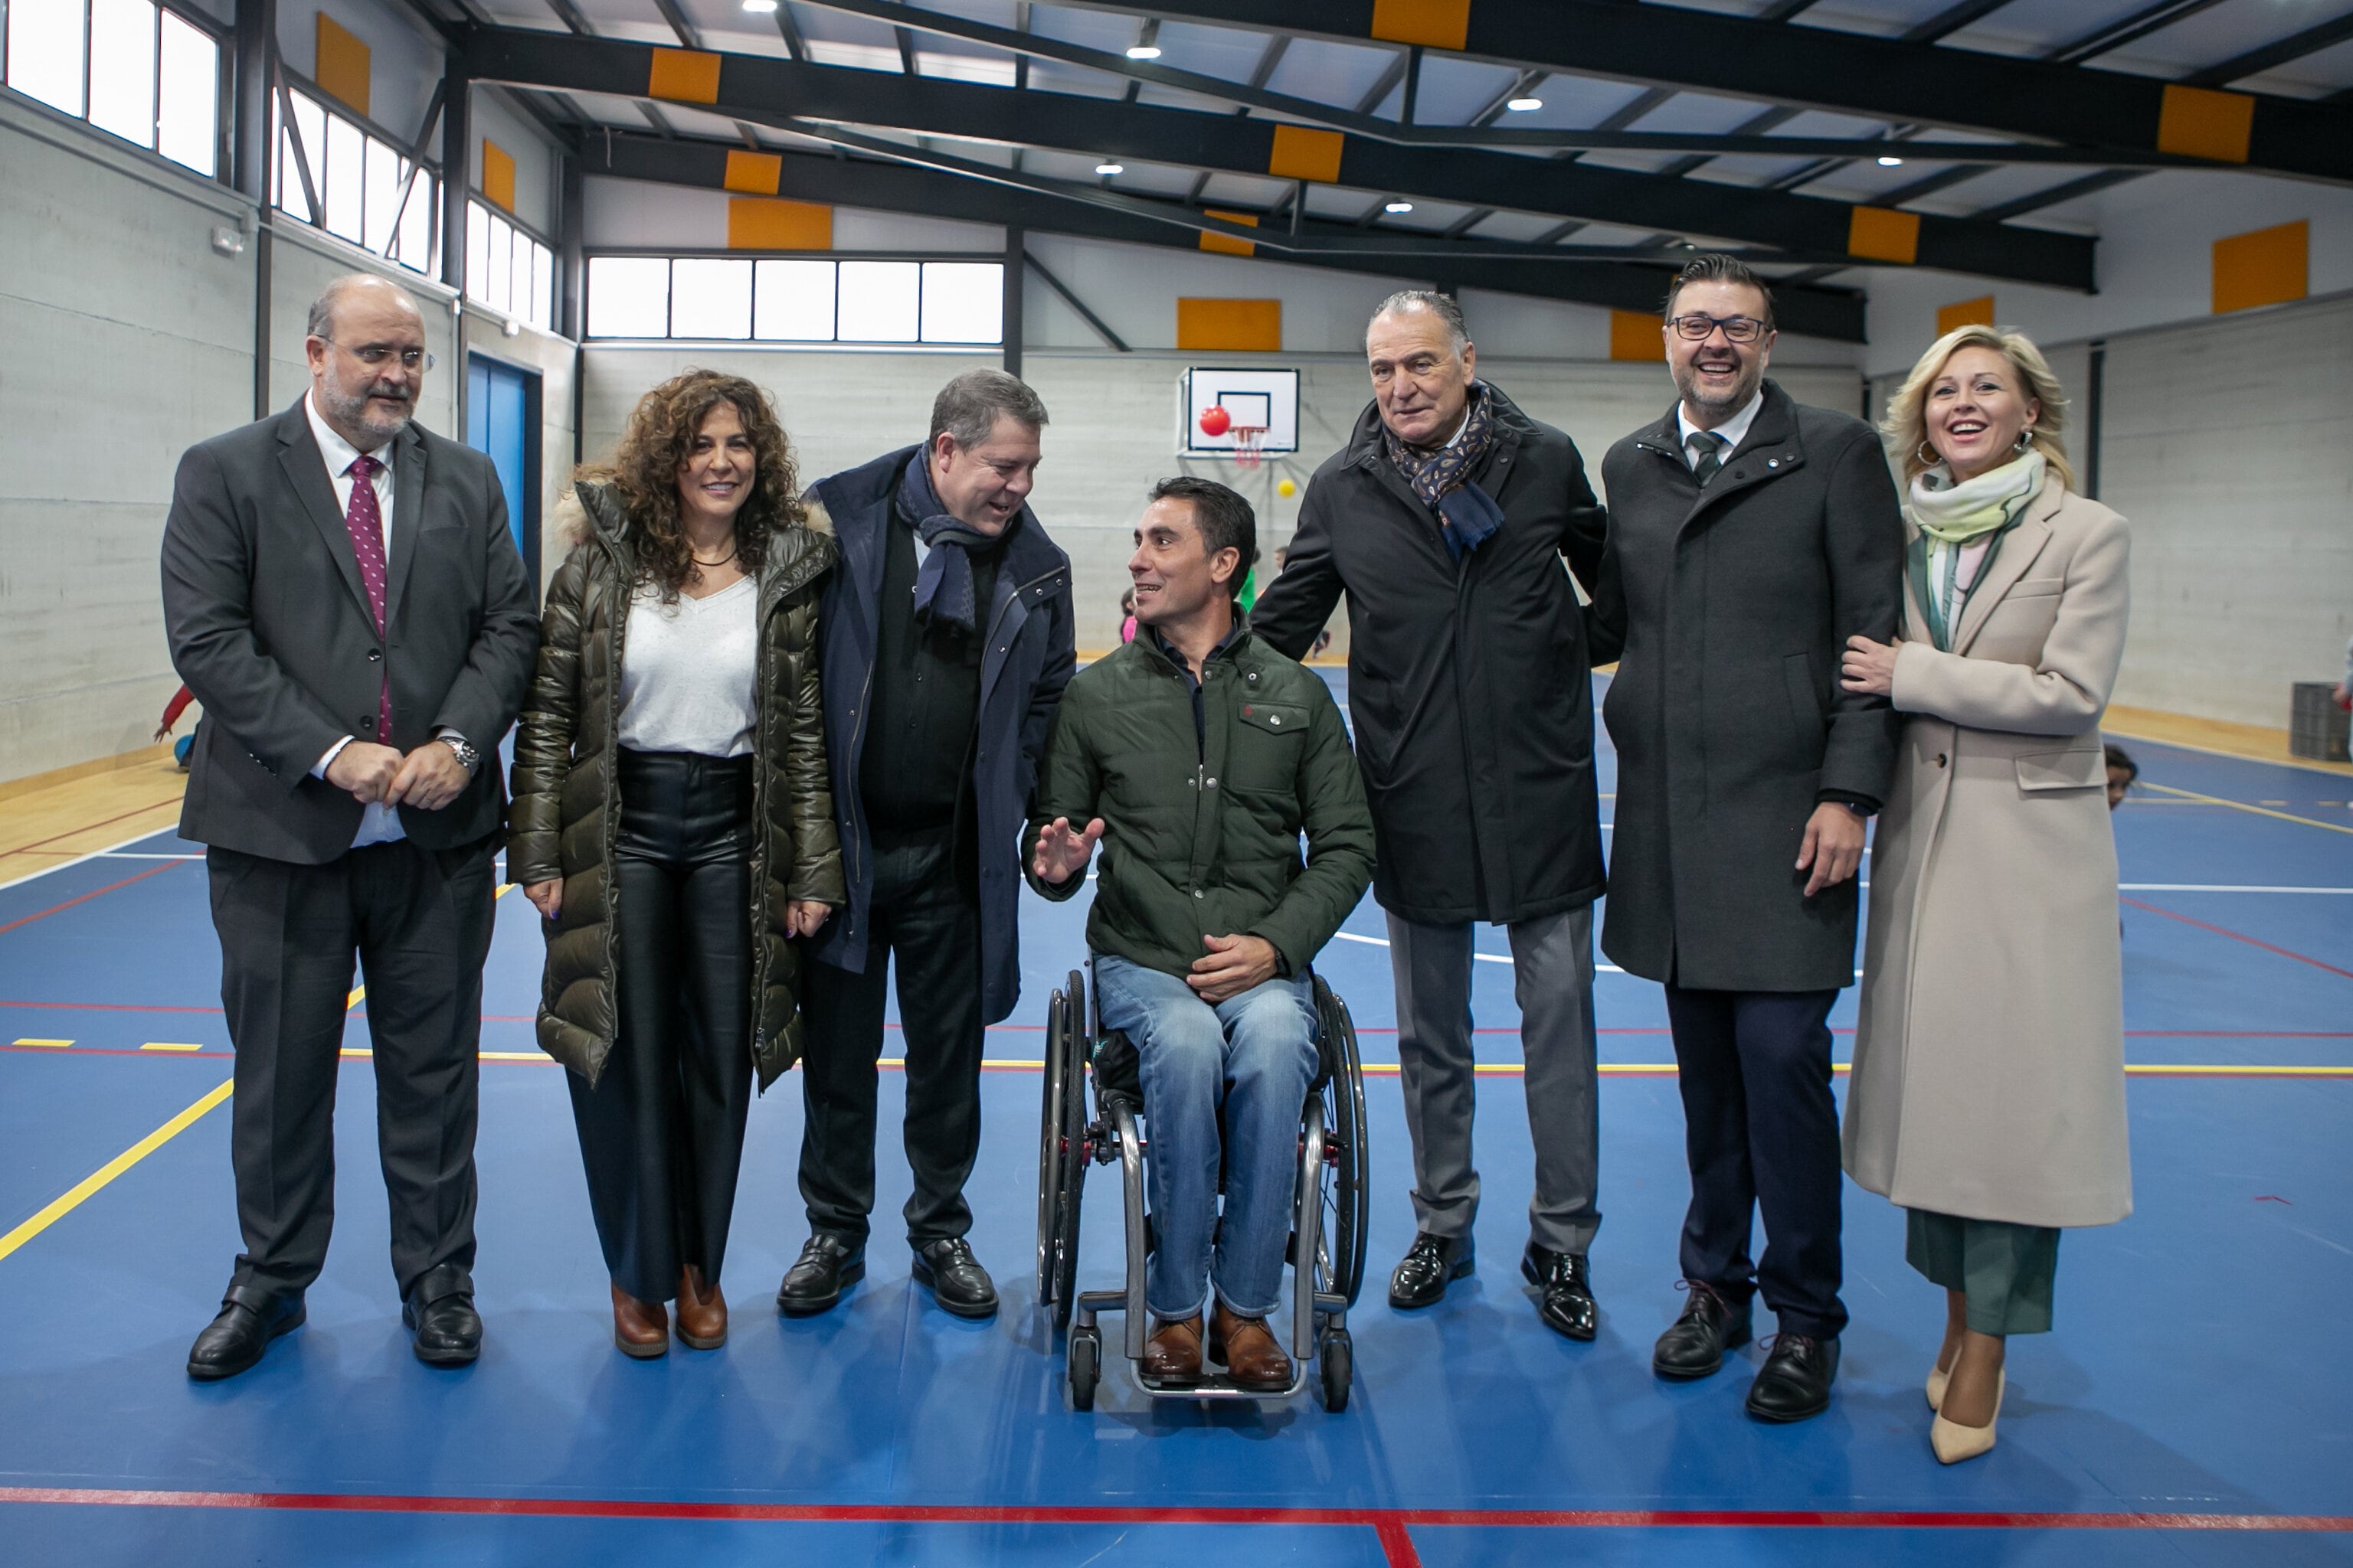
M 654 49 L 624 40 L 525 28 L 468 33 L 466 71 L 485 82 L 645 99 Z M 824 125 L 887 127 L 1085 158 L 1176 165 L 1254 179 L 1297 179 L 1266 120 L 1193 108 L 1009 92 L 944 78 L 901 78 L 767 54 L 720 54 L 718 115 L 824 136 Z M 1329 183 L 1362 190 L 1715 235 L 1786 252 L 1791 261 L 1845 261 L 1854 233 L 1847 202 L 1631 174 L 1548 158 L 1414 148 L 1348 136 Z M 1974 219 L 1920 216 L 1918 266 L 2059 289 L 2092 289 L 2094 242 Z

